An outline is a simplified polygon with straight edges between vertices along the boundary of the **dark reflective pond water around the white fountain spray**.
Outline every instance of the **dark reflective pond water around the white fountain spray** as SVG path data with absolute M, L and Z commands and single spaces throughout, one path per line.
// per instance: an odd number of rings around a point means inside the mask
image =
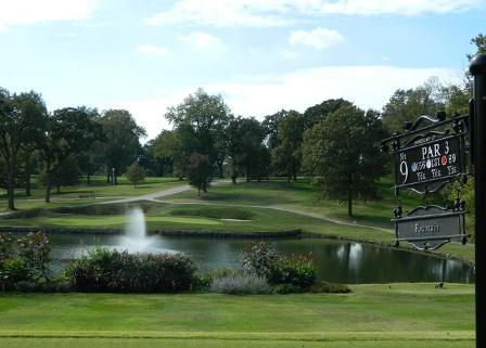
M 123 239 L 120 235 L 51 234 L 51 257 L 54 267 L 60 269 L 97 246 L 123 248 L 119 246 L 127 245 Z M 242 247 L 256 241 L 155 235 L 148 250 L 183 253 L 204 272 L 214 268 L 238 268 Z M 323 239 L 276 239 L 268 243 L 285 255 L 311 253 L 318 279 L 333 283 L 474 282 L 472 267 L 423 253 Z

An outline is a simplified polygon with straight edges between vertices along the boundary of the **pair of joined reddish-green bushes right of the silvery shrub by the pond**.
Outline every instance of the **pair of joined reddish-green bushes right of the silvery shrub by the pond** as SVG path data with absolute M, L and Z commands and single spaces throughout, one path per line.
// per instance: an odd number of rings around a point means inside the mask
M 286 257 L 265 242 L 248 245 L 242 254 L 243 267 L 265 276 L 270 284 L 307 288 L 316 282 L 316 266 L 310 255 Z

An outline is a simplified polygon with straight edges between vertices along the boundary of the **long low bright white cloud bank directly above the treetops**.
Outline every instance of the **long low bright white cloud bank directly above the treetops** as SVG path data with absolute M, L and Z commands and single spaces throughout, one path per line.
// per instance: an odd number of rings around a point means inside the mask
M 431 76 L 437 76 L 442 82 L 461 80 L 461 72 L 447 68 L 324 66 L 282 75 L 243 76 L 231 83 L 164 89 L 151 99 L 117 101 L 102 105 L 101 108 L 130 111 L 148 130 L 149 140 L 162 129 L 169 129 L 168 121 L 163 117 L 167 107 L 178 105 L 199 87 L 208 93 L 221 94 L 233 114 L 263 119 L 265 115 L 274 114 L 282 108 L 304 112 L 331 98 L 347 99 L 362 108 L 381 109 L 395 90 L 414 88 Z

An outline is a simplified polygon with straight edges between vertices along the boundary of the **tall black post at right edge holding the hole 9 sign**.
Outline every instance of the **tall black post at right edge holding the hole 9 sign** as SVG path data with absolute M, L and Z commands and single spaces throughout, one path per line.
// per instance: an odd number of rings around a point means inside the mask
M 476 55 L 470 65 L 474 76 L 474 194 L 475 194 L 475 270 L 476 270 L 476 347 L 486 347 L 486 54 Z

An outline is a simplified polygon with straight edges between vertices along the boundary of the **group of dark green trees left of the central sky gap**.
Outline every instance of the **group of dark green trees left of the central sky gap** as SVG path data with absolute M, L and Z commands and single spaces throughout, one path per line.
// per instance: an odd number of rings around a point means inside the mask
M 39 93 L 10 93 L 0 89 L 0 183 L 7 190 L 8 208 L 15 209 L 16 188 L 30 195 L 30 177 L 39 175 L 51 190 L 76 184 L 81 175 L 103 171 L 122 175 L 141 152 L 145 130 L 129 112 L 102 113 L 87 106 L 49 113 Z M 112 169 L 113 168 L 113 169 Z

